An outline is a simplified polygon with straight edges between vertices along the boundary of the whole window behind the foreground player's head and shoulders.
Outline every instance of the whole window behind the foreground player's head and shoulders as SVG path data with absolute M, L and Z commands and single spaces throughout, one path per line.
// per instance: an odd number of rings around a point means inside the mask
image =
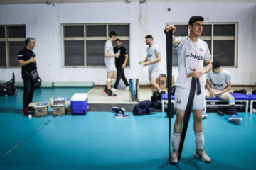
M 174 26 L 176 37 L 188 36 L 187 23 L 174 23 Z M 220 62 L 222 67 L 237 66 L 238 23 L 203 23 L 200 39 L 208 44 L 213 61 Z M 173 66 L 178 66 L 176 50 L 173 50 Z

